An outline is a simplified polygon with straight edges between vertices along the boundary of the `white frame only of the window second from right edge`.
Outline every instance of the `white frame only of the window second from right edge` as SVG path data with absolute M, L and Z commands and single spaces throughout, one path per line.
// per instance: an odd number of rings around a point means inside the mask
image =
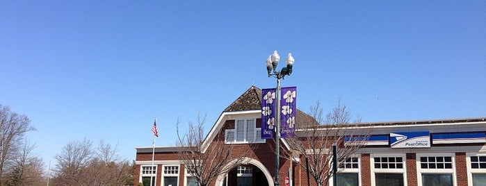
M 451 157 L 452 169 L 422 169 L 421 157 Z M 457 186 L 457 174 L 455 173 L 455 153 L 416 153 L 416 180 L 422 184 L 422 174 L 452 174 L 452 185 Z

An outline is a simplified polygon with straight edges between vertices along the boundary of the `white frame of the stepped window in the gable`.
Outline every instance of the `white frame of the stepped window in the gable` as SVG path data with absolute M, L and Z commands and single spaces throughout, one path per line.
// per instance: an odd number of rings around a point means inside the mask
M 243 121 L 243 141 L 238 141 L 238 121 Z M 253 140 L 246 139 L 246 134 L 248 131 L 248 121 L 254 122 L 253 130 Z M 228 140 L 230 133 L 233 133 L 233 140 Z M 257 139 L 257 134 L 260 134 L 260 139 Z M 261 139 L 261 128 L 257 127 L 257 119 L 251 118 L 239 118 L 234 119 L 234 128 L 225 130 L 225 144 L 259 144 L 265 143 L 265 139 Z

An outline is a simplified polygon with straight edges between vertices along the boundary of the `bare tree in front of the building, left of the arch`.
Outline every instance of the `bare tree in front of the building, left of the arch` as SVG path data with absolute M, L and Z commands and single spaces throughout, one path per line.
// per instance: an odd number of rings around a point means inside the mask
M 233 158 L 234 146 L 225 144 L 224 133 L 218 133 L 204 151 L 204 123 L 206 115 L 197 116 L 197 124 L 188 122 L 188 130 L 181 135 L 179 130 L 180 119 L 177 119 L 177 139 L 179 147 L 179 159 L 187 169 L 188 174 L 195 178 L 200 186 L 207 186 L 222 174 L 227 174 L 240 164 L 245 163 L 245 155 L 241 158 Z

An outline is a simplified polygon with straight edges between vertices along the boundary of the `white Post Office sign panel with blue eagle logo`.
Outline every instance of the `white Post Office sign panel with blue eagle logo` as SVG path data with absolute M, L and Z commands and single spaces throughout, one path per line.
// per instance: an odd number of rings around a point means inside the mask
M 430 133 L 390 133 L 391 148 L 430 148 Z

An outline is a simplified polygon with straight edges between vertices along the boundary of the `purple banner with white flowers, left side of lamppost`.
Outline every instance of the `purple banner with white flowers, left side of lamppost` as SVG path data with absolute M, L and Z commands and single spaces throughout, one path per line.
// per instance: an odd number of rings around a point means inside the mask
M 261 139 L 272 139 L 275 134 L 275 88 L 261 90 Z

